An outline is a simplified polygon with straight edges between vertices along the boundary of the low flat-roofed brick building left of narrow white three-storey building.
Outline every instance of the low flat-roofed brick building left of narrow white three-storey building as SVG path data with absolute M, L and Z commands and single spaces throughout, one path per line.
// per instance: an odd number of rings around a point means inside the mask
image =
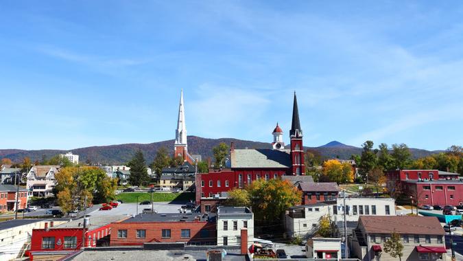
M 110 245 L 143 245 L 147 242 L 187 242 L 189 245 L 215 245 L 215 215 L 138 214 L 111 223 Z

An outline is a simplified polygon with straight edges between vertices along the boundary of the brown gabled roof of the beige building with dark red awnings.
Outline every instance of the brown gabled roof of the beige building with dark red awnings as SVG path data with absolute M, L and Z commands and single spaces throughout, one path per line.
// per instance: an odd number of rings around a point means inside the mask
M 435 216 L 360 216 L 360 225 L 368 234 L 445 234 Z

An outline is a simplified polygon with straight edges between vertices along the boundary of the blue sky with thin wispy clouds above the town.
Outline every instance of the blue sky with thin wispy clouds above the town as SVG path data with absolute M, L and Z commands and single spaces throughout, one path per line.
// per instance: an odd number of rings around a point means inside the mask
M 442 2 L 442 1 L 441 1 Z M 463 144 L 463 3 L 1 1 L 0 148 L 189 135 Z

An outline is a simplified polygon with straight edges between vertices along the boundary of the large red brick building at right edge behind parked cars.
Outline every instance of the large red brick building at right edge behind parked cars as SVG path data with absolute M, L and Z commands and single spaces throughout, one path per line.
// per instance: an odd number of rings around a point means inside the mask
M 458 173 L 440 170 L 394 170 L 387 172 L 386 177 L 390 192 L 409 196 L 418 207 L 463 205 L 463 180 Z

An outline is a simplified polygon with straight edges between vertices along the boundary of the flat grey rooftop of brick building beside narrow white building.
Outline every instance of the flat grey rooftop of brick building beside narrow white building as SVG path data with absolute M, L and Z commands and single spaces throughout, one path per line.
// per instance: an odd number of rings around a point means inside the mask
M 133 218 L 130 217 L 123 220 L 122 223 L 134 222 L 193 222 L 196 217 L 200 217 L 200 221 L 207 221 L 205 216 L 200 213 L 145 213 L 138 214 Z M 209 214 L 209 221 L 215 217 L 215 214 Z

